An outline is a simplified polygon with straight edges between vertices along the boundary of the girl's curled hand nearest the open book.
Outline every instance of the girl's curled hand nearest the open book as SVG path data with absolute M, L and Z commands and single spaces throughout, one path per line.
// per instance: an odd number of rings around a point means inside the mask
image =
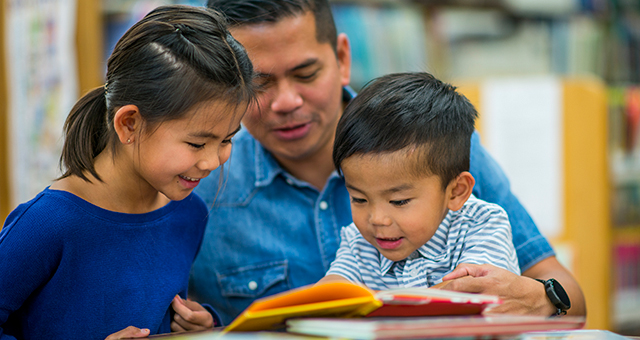
M 183 300 L 176 295 L 171 307 L 176 312 L 171 321 L 171 331 L 201 331 L 213 328 L 213 316 L 199 303 Z

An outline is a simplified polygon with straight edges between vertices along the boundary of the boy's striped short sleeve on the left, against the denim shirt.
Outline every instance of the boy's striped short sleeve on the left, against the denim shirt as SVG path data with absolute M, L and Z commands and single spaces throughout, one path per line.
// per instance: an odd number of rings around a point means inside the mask
M 359 270 L 358 238 L 366 242 L 351 223 L 340 230 L 340 247 L 326 275 L 339 275 L 353 283 L 364 283 Z

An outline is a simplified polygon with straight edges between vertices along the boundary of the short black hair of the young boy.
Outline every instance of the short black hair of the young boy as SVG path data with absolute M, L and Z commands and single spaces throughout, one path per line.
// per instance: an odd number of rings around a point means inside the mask
M 338 122 L 333 162 L 354 155 L 415 150 L 415 175 L 436 175 L 443 188 L 469 170 L 477 112 L 456 88 L 429 73 L 374 79 L 345 108 Z

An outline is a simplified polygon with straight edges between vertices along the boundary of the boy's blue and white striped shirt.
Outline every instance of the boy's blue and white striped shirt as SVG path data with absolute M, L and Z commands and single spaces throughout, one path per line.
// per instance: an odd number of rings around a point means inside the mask
M 500 206 L 471 196 L 462 209 L 449 211 L 426 244 L 398 262 L 382 256 L 351 223 L 341 230 L 327 275 L 374 290 L 431 287 L 461 263 L 488 263 L 520 275 L 509 218 Z

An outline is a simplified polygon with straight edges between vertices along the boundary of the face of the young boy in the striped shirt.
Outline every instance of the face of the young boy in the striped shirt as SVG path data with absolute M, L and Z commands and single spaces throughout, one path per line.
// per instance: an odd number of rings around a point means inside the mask
M 414 157 L 404 151 L 355 155 L 341 164 L 353 222 L 392 261 L 427 243 L 449 211 L 451 185 L 443 190 L 438 176 L 416 177 Z

